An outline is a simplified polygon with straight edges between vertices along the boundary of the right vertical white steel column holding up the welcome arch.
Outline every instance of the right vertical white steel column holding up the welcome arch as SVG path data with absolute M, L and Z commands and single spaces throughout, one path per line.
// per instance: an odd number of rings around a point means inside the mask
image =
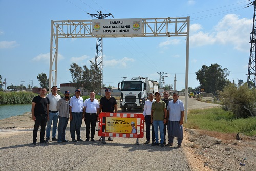
M 186 47 L 186 77 L 185 77 L 185 123 L 187 122 L 187 98 L 188 98 L 188 68 L 189 68 L 189 25 L 190 17 L 187 17 L 187 47 Z

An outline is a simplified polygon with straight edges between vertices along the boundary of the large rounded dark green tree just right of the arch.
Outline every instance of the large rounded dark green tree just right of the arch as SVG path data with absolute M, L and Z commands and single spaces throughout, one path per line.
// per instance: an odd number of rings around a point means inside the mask
M 196 72 L 197 80 L 200 87 L 204 88 L 207 93 L 216 94 L 217 91 L 222 91 L 223 88 L 230 83 L 227 79 L 230 71 L 227 68 L 222 69 L 221 65 L 215 63 L 209 67 L 203 65 L 200 70 Z

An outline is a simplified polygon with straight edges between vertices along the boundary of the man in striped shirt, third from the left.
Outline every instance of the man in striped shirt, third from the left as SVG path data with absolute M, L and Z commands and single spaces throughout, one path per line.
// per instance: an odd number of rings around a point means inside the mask
M 58 143 L 68 142 L 65 139 L 65 130 L 69 122 L 69 91 L 65 91 L 64 97 L 57 103 L 59 111 Z

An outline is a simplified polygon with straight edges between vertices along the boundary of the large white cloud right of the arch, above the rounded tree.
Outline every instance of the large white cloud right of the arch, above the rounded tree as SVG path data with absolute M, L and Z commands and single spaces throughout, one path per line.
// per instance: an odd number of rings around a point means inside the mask
M 190 45 L 203 46 L 212 44 L 230 44 L 239 51 L 248 51 L 252 19 L 242 18 L 236 14 L 225 15 L 211 32 L 200 31 L 201 28 L 193 26 L 198 32 L 190 34 Z

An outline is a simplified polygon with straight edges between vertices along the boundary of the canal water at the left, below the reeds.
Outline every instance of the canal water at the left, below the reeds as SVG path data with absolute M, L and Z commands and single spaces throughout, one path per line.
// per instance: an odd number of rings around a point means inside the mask
M 31 104 L 0 105 L 0 119 L 31 112 Z

